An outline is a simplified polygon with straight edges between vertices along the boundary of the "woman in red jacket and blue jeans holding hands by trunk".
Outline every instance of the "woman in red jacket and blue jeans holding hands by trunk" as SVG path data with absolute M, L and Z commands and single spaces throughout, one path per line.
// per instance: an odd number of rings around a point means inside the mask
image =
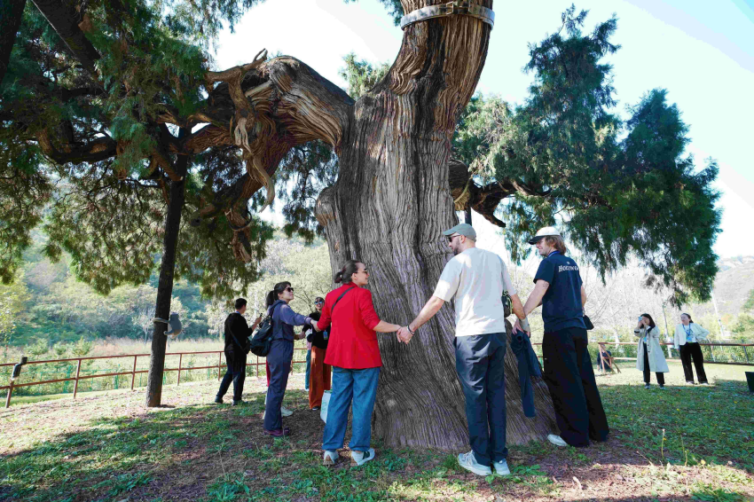
M 327 405 L 327 422 L 322 447 L 326 466 L 332 466 L 342 448 L 353 402 L 351 464 L 360 466 L 374 458 L 372 412 L 377 395 L 382 358 L 377 333 L 397 332 L 401 326 L 381 321 L 374 312 L 372 292 L 366 289 L 369 272 L 364 263 L 350 260 L 335 274 L 343 286 L 326 295 L 317 329 L 330 330 L 325 364 L 333 366 L 333 393 Z

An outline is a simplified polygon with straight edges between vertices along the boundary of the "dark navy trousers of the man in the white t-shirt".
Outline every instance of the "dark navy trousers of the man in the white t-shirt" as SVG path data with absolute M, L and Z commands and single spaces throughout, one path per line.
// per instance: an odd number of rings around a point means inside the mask
M 466 396 L 468 442 L 477 462 L 507 457 L 506 333 L 457 336 L 456 371 Z

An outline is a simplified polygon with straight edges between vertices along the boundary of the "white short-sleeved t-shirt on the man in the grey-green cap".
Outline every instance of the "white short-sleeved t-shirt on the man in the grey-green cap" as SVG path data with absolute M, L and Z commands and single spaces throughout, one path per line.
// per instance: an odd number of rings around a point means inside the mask
M 471 247 L 445 265 L 434 295 L 445 302 L 455 300 L 456 336 L 471 336 L 506 332 L 500 300 L 504 289 L 516 293 L 500 257 Z

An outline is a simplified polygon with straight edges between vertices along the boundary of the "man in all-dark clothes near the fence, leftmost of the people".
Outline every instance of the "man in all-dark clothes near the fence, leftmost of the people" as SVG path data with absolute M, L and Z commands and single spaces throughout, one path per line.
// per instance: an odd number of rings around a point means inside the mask
M 248 337 L 254 333 L 262 316 L 254 321 L 251 327 L 248 327 L 246 318 L 246 299 L 239 298 L 236 300 L 236 311 L 225 318 L 225 361 L 228 363 L 228 371 L 225 372 L 223 381 L 220 383 L 220 390 L 217 391 L 215 402 L 223 403 L 223 396 L 233 382 L 233 406 L 242 404 L 241 396 L 243 395 L 243 381 L 246 379 L 246 345 Z

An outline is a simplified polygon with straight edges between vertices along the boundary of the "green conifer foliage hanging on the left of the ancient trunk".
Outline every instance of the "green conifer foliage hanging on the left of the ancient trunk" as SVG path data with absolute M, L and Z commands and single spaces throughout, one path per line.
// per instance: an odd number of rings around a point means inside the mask
M 77 278 L 108 293 L 144 283 L 161 252 L 177 153 L 191 155 L 184 221 L 246 174 L 238 148 L 190 145 L 178 127 L 206 111 L 209 49 L 256 0 L 95 0 L 26 4 L 0 83 L 0 278 L 12 280 L 29 232 L 72 255 Z M 241 208 L 243 211 L 243 208 Z M 177 277 L 233 294 L 259 277 L 271 226 L 255 216 L 246 263 L 223 213 L 184 224 Z

